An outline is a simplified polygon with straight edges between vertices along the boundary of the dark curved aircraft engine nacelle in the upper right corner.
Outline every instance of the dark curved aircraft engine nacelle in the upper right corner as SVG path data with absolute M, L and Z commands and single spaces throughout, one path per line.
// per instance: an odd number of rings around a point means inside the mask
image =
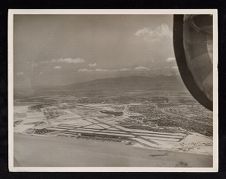
M 213 109 L 213 17 L 174 15 L 174 52 L 182 80 L 193 97 Z

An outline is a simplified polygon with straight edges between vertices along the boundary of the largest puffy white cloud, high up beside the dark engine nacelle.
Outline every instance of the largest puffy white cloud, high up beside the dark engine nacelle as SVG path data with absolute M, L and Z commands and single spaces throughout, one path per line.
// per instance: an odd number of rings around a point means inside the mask
M 167 24 L 161 24 L 155 29 L 144 27 L 135 32 L 135 36 L 142 37 L 151 41 L 162 40 L 163 38 L 172 38 L 173 33 Z

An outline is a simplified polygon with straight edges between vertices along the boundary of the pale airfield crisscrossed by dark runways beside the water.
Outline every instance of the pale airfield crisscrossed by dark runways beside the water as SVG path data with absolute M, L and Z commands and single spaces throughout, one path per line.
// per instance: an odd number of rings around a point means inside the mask
M 75 108 L 61 110 L 61 116 L 49 120 L 45 119 L 44 115 L 42 116 L 42 112 L 31 113 L 34 116 L 28 116 L 27 120 L 21 121 L 20 125 L 15 128 L 15 132 L 111 140 L 149 148 L 161 148 L 161 145 L 166 147 L 165 142 L 174 146 L 175 143 L 180 142 L 187 136 L 186 133 L 182 132 L 154 132 L 122 127 L 118 125 L 118 122 L 127 119 L 129 116 L 139 116 L 139 114 L 128 112 L 127 105 L 125 105 L 122 106 L 124 108 L 123 115 L 117 116 L 111 106 L 109 104 L 78 104 Z M 49 107 L 46 109 L 56 110 L 57 108 Z M 43 120 L 40 121 L 40 118 L 43 118 Z M 30 119 L 31 121 L 29 121 Z

